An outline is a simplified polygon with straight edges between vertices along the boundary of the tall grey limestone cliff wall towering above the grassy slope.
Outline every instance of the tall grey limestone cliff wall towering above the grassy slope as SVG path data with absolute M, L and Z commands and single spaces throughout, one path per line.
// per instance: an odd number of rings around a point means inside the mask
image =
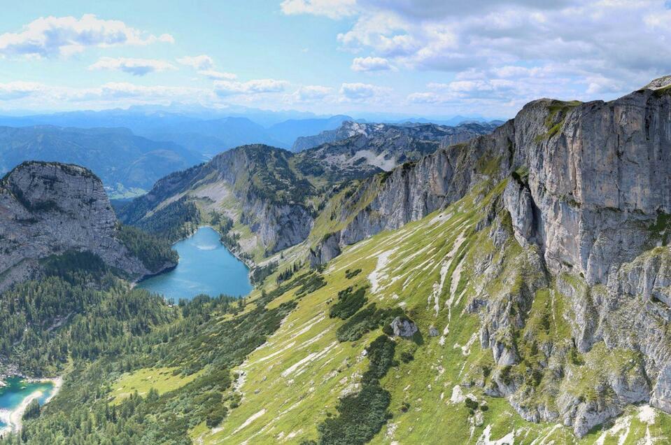
M 339 246 L 355 243 L 503 184 L 479 227 L 498 221 L 489 230 L 502 246 L 509 216 L 526 265 L 520 282 L 503 281 L 494 295 L 483 285 L 469 305 L 497 366 L 487 393 L 507 397 L 530 421 L 559 420 L 579 436 L 626 404 L 650 402 L 671 412 L 668 85 L 657 80 L 610 102 L 534 101 L 490 136 L 438 150 L 337 197 L 327 210 L 339 229 L 313 251 L 337 252 L 334 237 Z M 499 279 L 501 260 L 479 261 L 482 277 Z M 522 334 L 525 313 L 544 288 L 570 306 L 570 337 L 534 346 L 542 350 L 539 375 L 556 391 L 552 404 L 515 371 L 530 360 L 524 345 L 535 334 Z M 594 398 L 576 394 L 584 376 L 571 374 L 572 349 L 594 360 Z

